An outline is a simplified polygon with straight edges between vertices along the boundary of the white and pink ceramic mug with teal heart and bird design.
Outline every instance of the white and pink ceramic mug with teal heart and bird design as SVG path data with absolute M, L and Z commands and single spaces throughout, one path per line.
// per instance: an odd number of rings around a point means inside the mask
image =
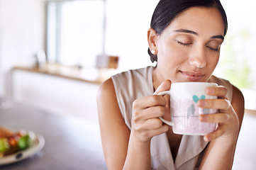
M 209 86 L 218 86 L 208 82 L 179 82 L 173 83 L 169 91 L 162 91 L 158 95 L 170 96 L 170 110 L 172 121 L 160 117 L 162 122 L 172 126 L 176 134 L 206 135 L 216 130 L 216 123 L 203 123 L 199 120 L 201 114 L 216 113 L 216 109 L 199 108 L 200 99 L 215 99 L 217 96 L 208 96 L 205 90 Z

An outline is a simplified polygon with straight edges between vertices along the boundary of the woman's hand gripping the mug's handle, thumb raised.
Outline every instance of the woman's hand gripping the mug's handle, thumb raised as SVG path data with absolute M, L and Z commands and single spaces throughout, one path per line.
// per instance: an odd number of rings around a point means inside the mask
M 160 91 L 167 91 L 170 86 L 171 81 L 166 80 L 157 88 L 154 94 L 158 94 Z M 167 112 L 166 105 L 166 99 L 158 95 L 138 98 L 133 102 L 131 133 L 140 142 L 149 142 L 152 137 L 169 130 L 169 126 L 163 125 L 159 119 L 160 116 L 165 115 Z

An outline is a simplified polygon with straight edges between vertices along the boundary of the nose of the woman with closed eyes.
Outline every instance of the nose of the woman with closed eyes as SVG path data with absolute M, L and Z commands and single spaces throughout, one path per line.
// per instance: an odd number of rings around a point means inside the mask
M 206 66 L 205 47 L 195 47 L 195 49 L 191 51 L 191 55 L 189 57 L 189 64 L 197 68 L 203 68 Z

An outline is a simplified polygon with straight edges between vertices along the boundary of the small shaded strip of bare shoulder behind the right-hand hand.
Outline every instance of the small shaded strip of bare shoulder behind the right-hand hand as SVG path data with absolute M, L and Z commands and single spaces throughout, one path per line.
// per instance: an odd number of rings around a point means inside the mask
M 243 115 L 245 113 L 245 98 L 243 97 L 242 92 L 235 86 L 233 86 L 233 97 L 231 104 L 238 114 L 240 125 L 243 121 Z

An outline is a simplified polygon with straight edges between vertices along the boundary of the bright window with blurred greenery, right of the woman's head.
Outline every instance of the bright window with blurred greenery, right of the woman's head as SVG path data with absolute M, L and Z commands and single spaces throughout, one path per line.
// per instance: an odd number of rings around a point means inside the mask
M 256 89 L 256 1 L 221 1 L 228 17 L 228 33 L 215 74 L 240 89 Z

